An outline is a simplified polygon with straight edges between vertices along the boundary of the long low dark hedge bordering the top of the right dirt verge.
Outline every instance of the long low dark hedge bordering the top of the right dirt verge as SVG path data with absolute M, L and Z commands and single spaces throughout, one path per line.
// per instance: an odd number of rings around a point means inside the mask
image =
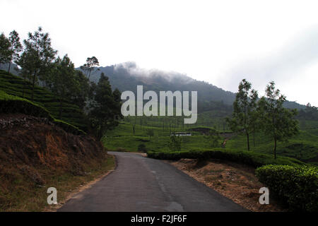
M 304 162 L 290 158 L 278 156 L 276 160 L 272 155 L 264 153 L 254 153 L 243 150 L 192 150 L 179 152 L 148 152 L 148 157 L 157 158 L 160 160 L 179 160 L 181 158 L 190 159 L 209 159 L 229 160 L 238 162 L 252 167 L 261 167 L 263 165 L 304 165 Z

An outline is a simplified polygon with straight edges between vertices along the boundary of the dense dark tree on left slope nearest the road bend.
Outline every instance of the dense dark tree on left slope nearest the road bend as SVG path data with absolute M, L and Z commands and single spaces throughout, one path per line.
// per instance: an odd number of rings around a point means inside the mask
M 119 124 L 122 119 L 119 90 L 112 92 L 108 77 L 101 73 L 91 103 L 90 121 L 98 139 Z

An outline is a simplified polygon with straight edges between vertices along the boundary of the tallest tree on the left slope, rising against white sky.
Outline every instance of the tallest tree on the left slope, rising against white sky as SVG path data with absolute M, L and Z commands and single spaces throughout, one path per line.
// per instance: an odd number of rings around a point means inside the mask
M 49 34 L 42 32 L 40 27 L 33 34 L 29 32 L 28 40 L 24 40 L 23 43 L 25 49 L 17 63 L 23 69 L 23 73 L 32 75 L 31 100 L 33 100 L 35 82 L 38 78 L 45 80 L 45 74 L 52 66 L 57 51 L 51 47 Z

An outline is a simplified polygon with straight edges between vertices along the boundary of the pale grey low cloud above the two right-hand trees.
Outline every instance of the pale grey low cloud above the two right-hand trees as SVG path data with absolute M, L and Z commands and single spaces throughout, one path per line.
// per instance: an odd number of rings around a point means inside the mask
M 305 70 L 317 64 L 318 25 L 315 25 L 277 51 L 263 57 L 247 59 L 233 66 L 225 71 L 226 79 L 223 78 L 220 83 L 223 87 L 235 91 L 242 78 L 247 78 L 254 88 L 263 91 L 269 81 L 275 81 L 277 84 L 298 81 Z

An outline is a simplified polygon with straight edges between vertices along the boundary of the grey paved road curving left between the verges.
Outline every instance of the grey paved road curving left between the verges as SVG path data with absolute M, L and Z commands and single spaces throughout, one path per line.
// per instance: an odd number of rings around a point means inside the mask
M 246 211 L 172 165 L 111 152 L 117 168 L 58 211 Z

